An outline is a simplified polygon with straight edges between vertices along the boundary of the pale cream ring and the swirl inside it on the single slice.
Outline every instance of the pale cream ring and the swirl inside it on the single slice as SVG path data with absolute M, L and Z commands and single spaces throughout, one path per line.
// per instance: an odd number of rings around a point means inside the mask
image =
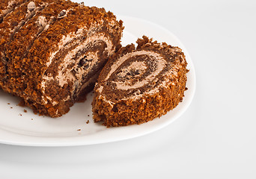
M 132 61 L 132 57 L 138 60 Z M 122 66 L 121 69 L 120 66 L 125 61 L 130 62 Z M 118 90 L 136 89 L 149 84 L 154 77 L 162 72 L 165 66 L 166 60 L 161 55 L 152 51 L 135 51 L 121 57 L 117 64 L 112 67 L 106 80 L 114 74 L 117 78 L 113 83 L 116 84 Z

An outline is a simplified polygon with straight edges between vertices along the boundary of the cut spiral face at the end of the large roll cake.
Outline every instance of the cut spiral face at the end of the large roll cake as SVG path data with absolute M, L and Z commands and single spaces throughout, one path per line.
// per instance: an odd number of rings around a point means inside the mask
M 83 34 L 84 32 L 87 34 Z M 82 40 L 85 36 L 87 39 Z M 79 93 L 96 81 L 97 72 L 104 65 L 104 61 L 100 59 L 106 59 L 114 51 L 112 40 L 105 34 L 79 29 L 78 33 L 64 37 L 47 63 L 48 69 L 56 68 L 57 63 L 58 71 L 52 73 L 46 70 L 41 82 L 44 103 L 58 104 L 54 100 L 54 94 L 47 92 L 52 85 L 57 89 L 70 88 L 70 94 L 62 98 L 62 101 L 76 101 Z

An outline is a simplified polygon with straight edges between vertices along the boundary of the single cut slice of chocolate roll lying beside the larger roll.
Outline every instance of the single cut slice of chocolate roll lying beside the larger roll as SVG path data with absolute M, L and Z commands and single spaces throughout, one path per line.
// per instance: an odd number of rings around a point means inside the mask
M 143 37 L 114 54 L 94 88 L 94 122 L 107 127 L 141 124 L 174 109 L 186 90 L 180 48 Z

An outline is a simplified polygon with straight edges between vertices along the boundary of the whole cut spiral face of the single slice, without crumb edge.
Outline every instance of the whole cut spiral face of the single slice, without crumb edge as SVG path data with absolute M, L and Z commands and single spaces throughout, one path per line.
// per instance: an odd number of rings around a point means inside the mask
M 170 66 L 170 61 L 162 54 L 133 51 L 115 61 L 100 91 L 109 101 L 138 98 L 159 91 L 165 77 L 174 73 L 175 64 Z

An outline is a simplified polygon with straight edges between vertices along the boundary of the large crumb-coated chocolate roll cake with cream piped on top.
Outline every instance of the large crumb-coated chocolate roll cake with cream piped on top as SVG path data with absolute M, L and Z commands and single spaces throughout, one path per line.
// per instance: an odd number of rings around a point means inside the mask
M 72 1 L 0 1 L 0 87 L 36 113 L 67 113 L 121 47 L 122 22 Z

